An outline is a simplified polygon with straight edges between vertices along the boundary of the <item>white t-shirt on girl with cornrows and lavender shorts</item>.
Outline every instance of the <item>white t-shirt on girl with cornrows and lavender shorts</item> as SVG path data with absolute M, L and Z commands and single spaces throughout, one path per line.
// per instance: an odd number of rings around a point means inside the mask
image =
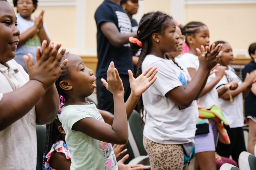
M 186 53 L 180 57 L 180 60 L 184 63 L 187 68 L 194 68 L 196 71 L 199 68 L 198 56 L 190 53 Z M 207 83 L 214 79 L 215 73 L 208 76 Z M 207 94 L 201 96 L 197 102 L 205 109 L 210 109 L 212 106 L 219 107 L 219 95 L 216 88 L 212 88 Z

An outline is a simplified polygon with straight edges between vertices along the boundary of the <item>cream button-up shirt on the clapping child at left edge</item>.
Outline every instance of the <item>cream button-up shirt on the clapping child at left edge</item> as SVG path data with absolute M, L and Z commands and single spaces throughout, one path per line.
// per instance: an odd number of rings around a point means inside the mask
M 28 81 L 28 74 L 14 60 L 0 64 L 0 101 L 3 94 L 20 88 Z M 36 169 L 35 125 L 36 111 L 33 107 L 25 116 L 0 131 L 0 169 Z

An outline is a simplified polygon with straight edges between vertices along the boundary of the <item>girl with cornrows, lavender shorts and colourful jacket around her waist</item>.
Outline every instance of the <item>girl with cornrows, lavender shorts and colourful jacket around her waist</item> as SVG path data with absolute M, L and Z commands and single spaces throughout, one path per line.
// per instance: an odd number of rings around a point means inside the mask
M 182 55 L 180 60 L 182 60 L 187 67 L 193 80 L 196 78 L 195 72 L 200 68 L 196 49 L 200 46 L 209 48 L 209 30 L 204 23 L 192 21 L 183 27 L 182 33 L 186 36 L 189 53 Z M 218 45 L 222 46 L 221 43 Z M 223 121 L 224 124 L 228 126 L 228 121 L 225 120 L 225 117 L 221 112 L 218 98 L 228 90 L 228 86 L 230 89 L 236 88 L 237 82 L 230 82 L 223 86 L 218 94 L 215 86 L 223 77 L 226 67 L 216 66 L 215 68 L 216 69 L 212 70 L 209 75 L 206 85 L 197 99 L 197 102 L 199 103 L 199 118 L 196 125 L 197 130 L 195 135 L 196 170 L 216 170 L 215 148 L 217 146 L 218 136 L 223 139 L 221 142 L 230 143 L 227 131 L 221 123 Z M 213 119 L 208 113 L 214 115 L 215 118 Z

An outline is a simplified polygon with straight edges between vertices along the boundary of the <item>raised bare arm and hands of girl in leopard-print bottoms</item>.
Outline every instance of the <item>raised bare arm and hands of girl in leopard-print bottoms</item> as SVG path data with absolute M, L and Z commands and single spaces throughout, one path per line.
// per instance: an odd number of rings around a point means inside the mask
M 166 93 L 166 97 L 174 101 L 178 106 L 186 108 L 193 100 L 196 99 L 205 81 L 208 77 L 210 70 L 217 64 L 220 59 L 220 46 L 218 45 L 213 49 L 208 55 L 205 56 L 204 47 L 201 47 L 201 51 L 197 49 L 199 56 L 199 68 L 195 72 L 191 82 L 184 88 L 183 86 L 178 86 Z M 190 74 L 190 73 L 189 73 Z M 186 100 L 184 100 L 186 98 Z

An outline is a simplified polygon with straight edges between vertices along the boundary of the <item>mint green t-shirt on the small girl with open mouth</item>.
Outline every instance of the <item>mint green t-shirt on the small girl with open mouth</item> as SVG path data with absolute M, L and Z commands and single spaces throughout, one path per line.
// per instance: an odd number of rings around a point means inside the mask
M 65 140 L 70 151 L 71 170 L 118 169 L 111 143 L 102 142 L 82 132 L 71 130 L 74 123 L 86 117 L 93 117 L 104 122 L 94 103 L 63 107 L 58 117 L 66 133 Z

